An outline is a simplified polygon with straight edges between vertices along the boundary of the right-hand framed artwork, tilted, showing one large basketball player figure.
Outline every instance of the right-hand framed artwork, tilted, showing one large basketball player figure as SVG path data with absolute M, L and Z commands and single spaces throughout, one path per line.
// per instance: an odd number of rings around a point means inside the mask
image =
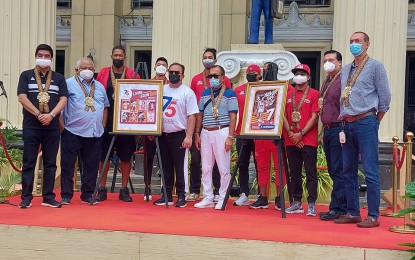
M 281 137 L 288 81 L 250 82 L 245 90 L 241 135 Z

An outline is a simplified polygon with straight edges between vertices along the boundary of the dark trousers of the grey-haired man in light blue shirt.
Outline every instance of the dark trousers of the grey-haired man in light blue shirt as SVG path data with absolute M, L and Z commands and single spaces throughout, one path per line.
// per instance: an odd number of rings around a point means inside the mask
M 82 163 L 81 200 L 88 200 L 97 182 L 102 136 L 81 137 L 64 129 L 61 140 L 61 197 L 73 197 L 73 176 L 79 154 Z

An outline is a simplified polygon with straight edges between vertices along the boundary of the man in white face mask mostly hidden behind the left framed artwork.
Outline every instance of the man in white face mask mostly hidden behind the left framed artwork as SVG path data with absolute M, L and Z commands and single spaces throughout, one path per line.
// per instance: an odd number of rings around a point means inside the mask
M 154 65 L 154 71 L 156 72 L 156 75 L 152 79 L 162 80 L 164 85 L 169 84 L 169 80 L 166 77 L 167 67 L 168 62 L 166 58 L 157 58 L 156 64 Z M 151 195 L 151 175 L 153 174 L 154 155 L 156 154 L 156 142 L 154 141 L 154 136 L 147 136 L 147 138 L 144 139 L 144 142 L 146 142 L 147 153 L 147 176 L 144 176 L 144 183 L 148 183 L 150 185 L 145 188 L 148 190 L 144 191 L 144 200 L 147 201 L 146 194 L 149 194 L 148 200 L 153 199 L 153 196 Z

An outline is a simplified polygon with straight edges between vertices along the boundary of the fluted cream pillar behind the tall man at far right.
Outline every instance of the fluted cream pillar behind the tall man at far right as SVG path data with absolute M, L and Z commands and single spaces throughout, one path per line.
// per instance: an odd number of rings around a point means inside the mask
M 369 56 L 385 65 L 392 103 L 380 126 L 379 139 L 384 142 L 403 132 L 407 24 L 407 0 L 334 2 L 333 49 L 343 54 L 343 64 L 353 61 L 350 36 L 355 31 L 364 31 L 370 37 Z

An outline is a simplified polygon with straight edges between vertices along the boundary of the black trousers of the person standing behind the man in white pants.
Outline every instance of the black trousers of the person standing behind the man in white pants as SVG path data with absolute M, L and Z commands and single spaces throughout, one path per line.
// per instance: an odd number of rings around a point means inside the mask
M 190 193 L 200 194 L 200 186 L 202 185 L 202 158 L 200 155 L 200 151 L 196 148 L 193 138 L 193 144 L 190 148 Z M 213 182 L 213 194 L 219 195 L 219 188 L 220 188 L 220 173 L 218 164 L 215 162 L 213 166 L 212 172 L 212 182 Z

